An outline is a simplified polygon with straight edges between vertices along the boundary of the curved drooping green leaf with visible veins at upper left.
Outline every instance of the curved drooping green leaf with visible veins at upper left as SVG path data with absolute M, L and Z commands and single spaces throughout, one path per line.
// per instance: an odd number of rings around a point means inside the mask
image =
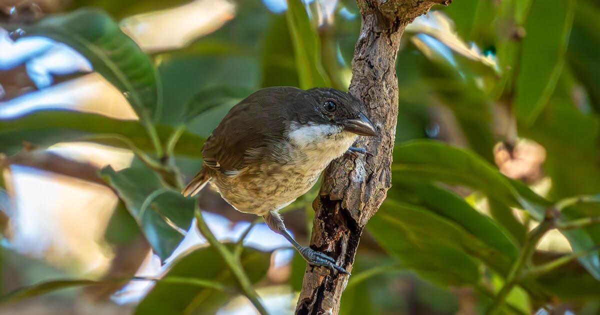
M 104 11 L 82 8 L 18 27 L 29 36 L 46 36 L 82 53 L 94 71 L 124 93 L 142 121 L 160 115 L 157 79 L 151 60 Z

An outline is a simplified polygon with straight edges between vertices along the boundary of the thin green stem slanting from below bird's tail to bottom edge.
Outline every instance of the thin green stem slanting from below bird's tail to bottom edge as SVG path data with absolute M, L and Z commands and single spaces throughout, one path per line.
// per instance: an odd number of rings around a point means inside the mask
M 221 255 L 224 262 L 227 264 L 227 266 L 229 266 L 229 269 L 231 269 L 233 276 L 238 280 L 240 289 L 242 290 L 242 292 L 244 292 L 244 295 L 250 300 L 254 307 L 256 307 L 256 310 L 259 311 L 260 314 L 268 314 L 266 308 L 260 302 L 259 296 L 256 294 L 256 291 L 254 291 L 252 283 L 250 282 L 250 279 L 248 279 L 248 275 L 246 275 L 244 269 L 239 263 L 239 259 L 236 259 L 235 256 L 233 256 L 233 254 L 229 250 L 227 250 L 225 245 L 223 245 L 223 243 L 217 240 L 215 235 L 211 232 L 208 225 L 206 224 L 206 221 L 204 221 L 204 218 L 202 218 L 199 206 L 197 206 L 196 204 L 194 208 L 196 224 L 198 229 L 200 230 L 200 233 L 204 235 L 206 241 L 208 241 L 209 244 L 215 247 L 217 252 Z

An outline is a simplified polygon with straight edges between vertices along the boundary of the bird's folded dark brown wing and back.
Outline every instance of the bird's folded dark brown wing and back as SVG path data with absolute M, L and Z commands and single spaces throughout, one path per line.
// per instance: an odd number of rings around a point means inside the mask
M 301 92 L 296 88 L 262 89 L 236 104 L 206 140 L 202 149 L 205 166 L 236 175 L 250 163 L 272 157 L 269 144 L 285 140 L 286 100 Z

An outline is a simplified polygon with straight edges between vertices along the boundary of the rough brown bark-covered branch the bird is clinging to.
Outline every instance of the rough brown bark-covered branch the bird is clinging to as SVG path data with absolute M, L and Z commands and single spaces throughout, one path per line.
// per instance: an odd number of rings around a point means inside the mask
M 404 28 L 434 4 L 451 0 L 358 0 L 361 34 L 352 61 L 350 93 L 365 101 L 377 137 L 365 139 L 373 157 L 344 156 L 325 170 L 315 211 L 311 247 L 352 271 L 358 241 L 391 187 L 392 150 L 398 115 L 396 56 Z M 347 275 L 307 266 L 298 314 L 337 314 Z

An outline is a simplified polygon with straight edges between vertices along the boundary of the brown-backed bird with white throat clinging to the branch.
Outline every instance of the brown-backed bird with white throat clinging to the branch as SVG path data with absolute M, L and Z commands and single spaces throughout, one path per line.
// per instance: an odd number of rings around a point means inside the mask
M 224 116 L 202 148 L 202 169 L 182 190 L 194 196 L 210 183 L 241 212 L 260 215 L 313 266 L 349 274 L 325 253 L 302 246 L 278 213 L 305 194 L 325 167 L 345 153 L 369 154 L 353 146 L 376 136 L 367 106 L 333 88 L 263 88 Z

